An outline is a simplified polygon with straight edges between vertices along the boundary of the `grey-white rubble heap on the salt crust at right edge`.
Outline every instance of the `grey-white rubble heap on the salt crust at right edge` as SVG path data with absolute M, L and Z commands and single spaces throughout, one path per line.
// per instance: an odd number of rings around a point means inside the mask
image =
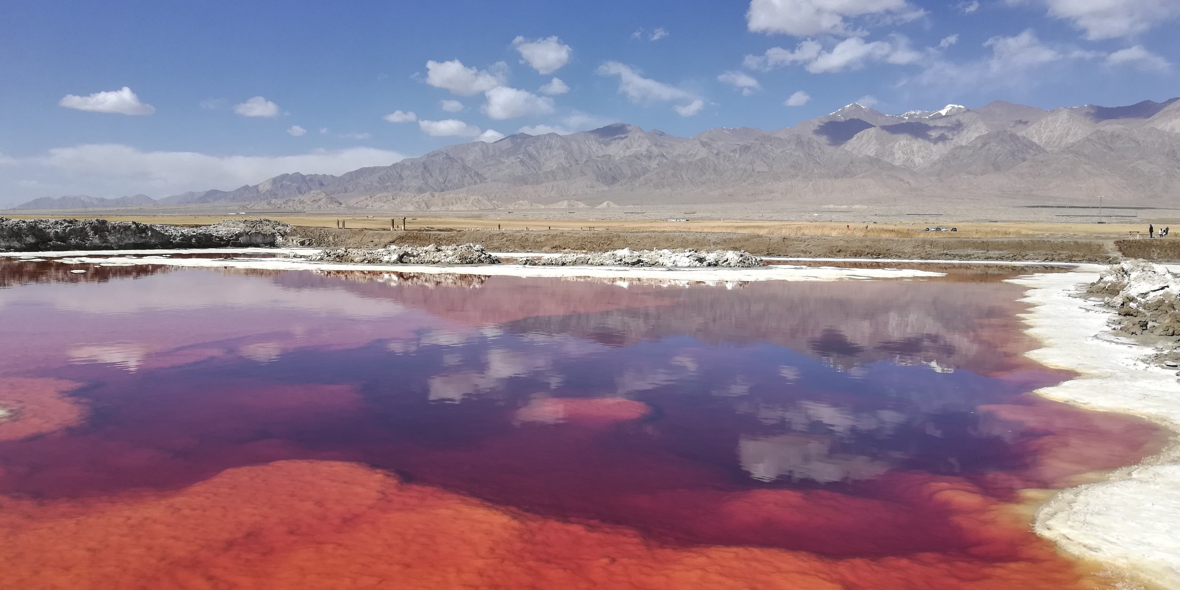
M 1112 266 L 1087 288 L 1104 295 L 1127 334 L 1180 336 L 1180 277 L 1167 268 L 1134 260 Z

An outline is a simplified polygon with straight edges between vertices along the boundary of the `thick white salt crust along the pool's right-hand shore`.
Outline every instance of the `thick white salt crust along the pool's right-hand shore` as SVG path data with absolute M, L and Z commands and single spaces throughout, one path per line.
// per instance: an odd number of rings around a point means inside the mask
M 1114 336 L 1107 327 L 1114 312 L 1075 296 L 1096 278 L 1094 273 L 1063 273 L 1010 280 L 1031 287 L 1022 301 L 1035 307 L 1024 320 L 1044 347 L 1028 356 L 1081 373 L 1036 393 L 1088 409 L 1135 414 L 1180 433 L 1176 371 L 1140 361 L 1152 349 Z M 1178 439 L 1106 481 L 1057 493 L 1040 509 L 1035 526 L 1075 556 L 1160 588 L 1180 588 Z

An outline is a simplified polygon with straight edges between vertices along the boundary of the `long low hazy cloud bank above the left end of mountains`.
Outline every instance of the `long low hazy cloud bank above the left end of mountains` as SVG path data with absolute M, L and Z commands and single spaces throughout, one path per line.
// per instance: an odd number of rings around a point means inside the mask
M 140 151 L 118 144 L 76 145 L 28 158 L 5 160 L 0 156 L 0 163 L 7 164 L 0 165 L 0 194 L 12 199 L 9 204 L 79 194 L 117 197 L 143 192 L 165 197 L 191 190 L 232 190 L 284 172 L 340 175 L 402 158 L 373 148 L 268 157 Z

